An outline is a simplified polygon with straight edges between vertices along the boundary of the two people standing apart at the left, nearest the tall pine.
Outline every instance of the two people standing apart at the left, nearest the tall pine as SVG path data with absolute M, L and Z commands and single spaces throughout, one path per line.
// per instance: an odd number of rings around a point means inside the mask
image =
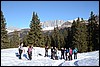
M 33 49 L 33 47 L 32 46 L 29 46 L 28 47 L 28 50 L 27 50 L 29 60 L 32 59 L 32 49 Z M 21 55 L 22 55 L 23 52 L 25 52 L 25 50 L 23 48 L 23 43 L 21 43 L 19 45 L 18 50 L 19 50 L 19 59 L 22 59 Z

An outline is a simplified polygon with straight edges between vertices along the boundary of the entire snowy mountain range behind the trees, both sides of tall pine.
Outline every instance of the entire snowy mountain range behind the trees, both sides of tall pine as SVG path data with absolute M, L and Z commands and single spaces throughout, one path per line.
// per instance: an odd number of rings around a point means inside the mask
M 77 18 L 74 19 L 74 20 L 76 21 Z M 71 25 L 73 23 L 73 20 L 67 20 L 67 21 L 64 21 L 64 20 L 51 20 L 51 21 L 44 21 L 44 22 L 40 22 L 40 23 L 42 25 L 41 26 L 42 31 L 47 31 L 47 30 L 53 30 L 54 27 L 56 27 L 57 25 L 58 25 L 59 28 L 71 27 Z M 87 22 L 85 22 L 85 23 L 87 23 Z M 13 32 L 14 30 L 21 31 L 20 28 L 16 28 L 16 27 L 12 27 L 12 26 L 7 28 L 8 33 Z

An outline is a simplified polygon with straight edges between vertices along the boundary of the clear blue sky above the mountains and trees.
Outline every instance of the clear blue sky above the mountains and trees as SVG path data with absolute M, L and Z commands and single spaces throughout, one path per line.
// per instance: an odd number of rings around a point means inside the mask
M 33 11 L 40 21 L 88 19 L 99 14 L 99 1 L 1 1 L 7 27 L 29 28 Z

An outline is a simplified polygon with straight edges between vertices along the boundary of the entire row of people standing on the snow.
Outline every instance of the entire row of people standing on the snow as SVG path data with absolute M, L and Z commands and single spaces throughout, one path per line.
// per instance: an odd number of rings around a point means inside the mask
M 27 49 L 29 60 L 32 60 L 32 49 L 34 49 L 33 46 L 29 46 Z M 48 49 L 49 47 L 46 46 L 45 47 L 45 57 L 48 57 Z M 23 48 L 23 43 L 21 43 L 19 45 L 19 59 L 22 59 L 21 55 L 23 52 L 25 52 L 25 50 Z M 68 49 L 61 48 L 61 59 L 72 60 L 73 54 L 74 54 L 74 59 L 77 59 L 77 52 L 78 52 L 77 48 L 74 48 L 73 50 L 71 48 L 68 48 Z M 51 47 L 51 59 L 58 60 L 56 47 Z

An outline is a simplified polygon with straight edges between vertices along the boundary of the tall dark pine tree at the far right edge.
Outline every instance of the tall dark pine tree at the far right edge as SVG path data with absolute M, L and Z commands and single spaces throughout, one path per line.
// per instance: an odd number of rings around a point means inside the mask
M 90 18 L 88 20 L 89 24 L 88 24 L 88 51 L 92 51 L 92 50 L 96 50 L 98 49 L 97 44 L 98 44 L 98 36 L 99 36 L 99 31 L 98 31 L 98 27 L 99 25 L 97 24 L 96 21 L 96 16 L 95 14 L 93 14 L 93 12 L 91 11 L 90 14 Z

